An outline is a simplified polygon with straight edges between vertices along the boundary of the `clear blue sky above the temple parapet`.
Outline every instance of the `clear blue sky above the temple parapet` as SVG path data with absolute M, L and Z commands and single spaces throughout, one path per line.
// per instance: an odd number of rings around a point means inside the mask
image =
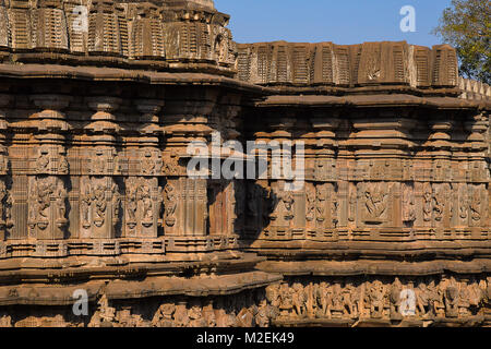
M 416 10 L 415 33 L 400 31 L 404 5 Z M 215 0 L 218 11 L 231 15 L 237 43 L 406 40 L 432 46 L 441 39 L 430 32 L 450 5 L 451 0 Z

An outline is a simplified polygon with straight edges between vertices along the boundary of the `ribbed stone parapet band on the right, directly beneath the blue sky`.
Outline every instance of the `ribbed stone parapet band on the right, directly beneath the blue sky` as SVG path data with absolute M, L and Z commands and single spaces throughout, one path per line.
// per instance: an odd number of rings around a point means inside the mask
M 458 83 L 455 49 L 447 45 L 429 49 L 406 41 L 240 44 L 237 69 L 240 80 L 254 84 L 455 87 Z

